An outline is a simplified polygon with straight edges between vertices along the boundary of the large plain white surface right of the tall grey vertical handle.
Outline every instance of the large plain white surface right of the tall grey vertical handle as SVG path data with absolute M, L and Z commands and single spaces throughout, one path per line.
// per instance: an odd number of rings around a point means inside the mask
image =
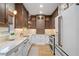
M 79 36 L 77 30 L 78 26 L 78 15 L 79 6 L 71 6 L 69 9 L 62 13 L 63 16 L 63 49 L 69 55 L 79 55 Z

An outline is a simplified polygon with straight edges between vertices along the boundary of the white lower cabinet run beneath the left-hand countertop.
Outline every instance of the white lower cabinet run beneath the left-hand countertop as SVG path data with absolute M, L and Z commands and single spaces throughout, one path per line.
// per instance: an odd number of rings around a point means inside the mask
M 17 46 L 17 49 L 15 49 L 10 54 L 10 56 L 27 56 L 30 47 L 31 47 L 31 42 L 29 40 L 28 41 L 24 41 L 19 46 Z

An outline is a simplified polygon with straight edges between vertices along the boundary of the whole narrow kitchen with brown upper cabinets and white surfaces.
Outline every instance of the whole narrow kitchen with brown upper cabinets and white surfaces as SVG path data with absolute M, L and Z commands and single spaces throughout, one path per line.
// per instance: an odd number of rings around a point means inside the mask
M 0 56 L 79 55 L 74 40 L 77 10 L 76 3 L 0 3 Z M 73 21 L 68 23 L 70 15 Z

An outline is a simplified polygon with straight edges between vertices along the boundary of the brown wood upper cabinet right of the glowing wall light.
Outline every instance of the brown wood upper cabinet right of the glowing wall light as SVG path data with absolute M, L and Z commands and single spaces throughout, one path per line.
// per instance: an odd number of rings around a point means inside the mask
M 16 3 L 15 9 L 17 10 L 15 27 L 16 28 L 27 27 L 28 11 L 26 10 L 26 8 L 22 3 Z

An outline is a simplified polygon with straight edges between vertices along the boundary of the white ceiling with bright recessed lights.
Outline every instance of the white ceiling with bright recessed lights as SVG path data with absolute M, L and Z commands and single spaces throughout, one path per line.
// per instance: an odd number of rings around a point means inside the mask
M 57 3 L 24 3 L 25 8 L 31 15 L 51 15 L 57 7 Z

